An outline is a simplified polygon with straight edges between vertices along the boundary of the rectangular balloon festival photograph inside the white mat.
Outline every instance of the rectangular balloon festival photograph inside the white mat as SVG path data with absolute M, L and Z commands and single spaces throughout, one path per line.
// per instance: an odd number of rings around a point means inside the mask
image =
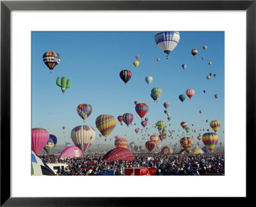
M 225 176 L 225 31 L 31 31 L 28 55 L 32 176 Z

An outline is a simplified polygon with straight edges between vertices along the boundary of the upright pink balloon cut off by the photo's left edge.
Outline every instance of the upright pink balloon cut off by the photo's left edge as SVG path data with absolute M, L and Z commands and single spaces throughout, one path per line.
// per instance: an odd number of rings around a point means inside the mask
M 50 134 L 44 128 L 32 128 L 32 151 L 38 155 L 49 140 Z

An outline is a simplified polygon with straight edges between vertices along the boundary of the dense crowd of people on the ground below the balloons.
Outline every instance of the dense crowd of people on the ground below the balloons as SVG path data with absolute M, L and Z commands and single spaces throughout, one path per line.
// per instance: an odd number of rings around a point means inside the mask
M 86 154 L 79 158 L 60 158 L 57 155 L 40 155 L 46 164 L 65 163 L 67 169 L 58 169 L 58 176 L 97 175 L 102 169 L 113 169 L 115 175 L 125 175 L 125 168 L 156 167 L 157 175 L 224 175 L 224 151 L 198 155 L 160 153 L 133 153 L 134 160 L 106 162 L 104 153 Z

